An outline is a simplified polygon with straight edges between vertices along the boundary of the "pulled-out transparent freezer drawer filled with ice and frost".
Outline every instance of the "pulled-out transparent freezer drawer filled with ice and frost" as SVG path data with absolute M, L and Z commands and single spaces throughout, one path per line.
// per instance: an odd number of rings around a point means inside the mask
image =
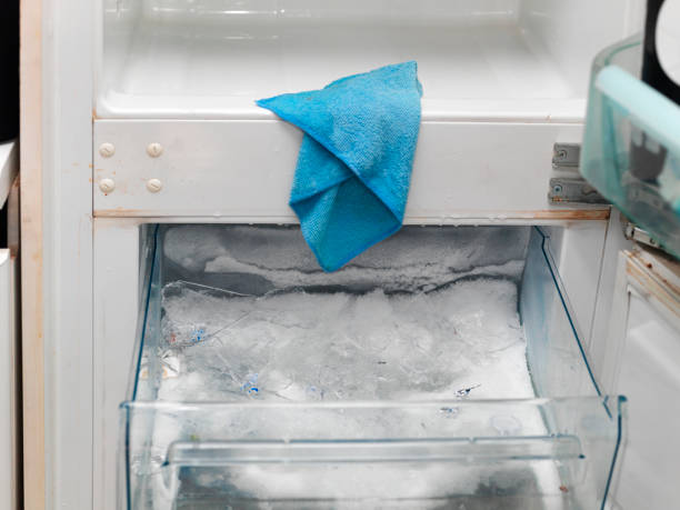
M 408 227 L 330 274 L 292 227 L 147 233 L 121 508 L 603 507 L 624 399 L 541 230 Z

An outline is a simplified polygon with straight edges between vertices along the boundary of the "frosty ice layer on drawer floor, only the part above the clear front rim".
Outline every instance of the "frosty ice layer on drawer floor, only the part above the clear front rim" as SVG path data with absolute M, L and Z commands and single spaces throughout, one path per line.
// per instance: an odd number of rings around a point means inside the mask
M 220 298 L 166 287 L 161 400 L 531 398 L 517 287 Z

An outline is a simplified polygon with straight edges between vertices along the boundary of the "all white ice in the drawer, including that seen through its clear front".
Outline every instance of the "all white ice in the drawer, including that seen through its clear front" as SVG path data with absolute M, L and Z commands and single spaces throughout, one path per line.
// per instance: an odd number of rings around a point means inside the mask
M 309 418 L 300 420 L 283 408 L 273 408 L 266 420 L 258 411 L 200 423 L 201 434 L 224 439 L 456 437 L 459 427 L 481 437 L 540 436 L 546 433 L 544 424 L 533 410 L 491 416 L 456 404 L 468 398 L 534 397 L 517 292 L 514 280 L 501 278 L 463 280 L 417 292 L 293 291 L 261 297 L 172 282 L 163 289 L 159 353 L 164 367 L 158 399 L 452 402 L 431 416 L 404 410 L 400 420 L 380 414 L 350 417 L 341 410 L 310 410 Z M 194 434 L 198 424 L 179 417 L 157 421 L 153 443 L 159 462 L 176 438 Z M 489 488 L 502 493 L 540 493 L 560 483 L 550 462 L 534 469 L 499 466 L 497 471 L 483 466 L 459 470 L 443 463 L 408 472 L 413 484 L 404 487 L 403 468 L 391 464 L 333 469 L 328 480 L 313 470 L 277 471 L 254 464 L 188 472 L 189 478 L 170 488 L 159 478 L 154 491 L 158 501 L 172 501 L 187 484 L 207 493 L 232 488 L 259 500 L 300 492 L 312 499 L 331 494 L 337 499 L 332 508 L 343 509 L 357 508 L 357 498 L 389 497 L 401 488 L 401 497 L 414 498 L 410 508 L 426 509 L 441 508 L 442 501 L 426 498 L 416 502 L 422 494 L 476 494 Z

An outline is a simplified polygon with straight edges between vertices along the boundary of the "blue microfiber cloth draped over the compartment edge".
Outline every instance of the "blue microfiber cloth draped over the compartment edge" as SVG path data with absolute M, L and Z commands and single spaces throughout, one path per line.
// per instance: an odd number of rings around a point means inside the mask
M 411 61 L 257 101 L 304 131 L 290 207 L 326 271 L 400 229 L 421 96 Z

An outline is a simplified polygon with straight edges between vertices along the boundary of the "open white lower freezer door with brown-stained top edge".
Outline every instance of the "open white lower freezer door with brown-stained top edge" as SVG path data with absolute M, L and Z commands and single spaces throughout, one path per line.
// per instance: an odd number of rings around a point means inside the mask
M 680 263 L 640 248 L 620 253 L 609 338 L 600 351 L 603 390 L 616 389 L 628 398 L 613 508 L 676 508 Z

